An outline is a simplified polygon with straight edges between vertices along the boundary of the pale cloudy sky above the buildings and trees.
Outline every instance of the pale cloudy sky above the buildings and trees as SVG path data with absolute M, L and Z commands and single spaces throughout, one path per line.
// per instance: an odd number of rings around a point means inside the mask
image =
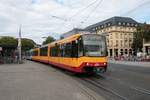
M 113 16 L 150 23 L 150 0 L 0 0 L 0 36 L 22 37 L 41 44 Z

